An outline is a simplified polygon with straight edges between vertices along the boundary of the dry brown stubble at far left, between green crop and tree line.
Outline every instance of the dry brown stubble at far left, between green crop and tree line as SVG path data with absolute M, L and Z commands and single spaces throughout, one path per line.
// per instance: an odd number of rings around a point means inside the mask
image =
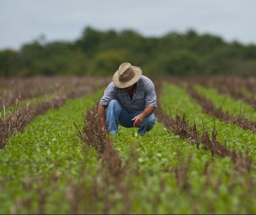
M 93 93 L 97 88 L 105 85 L 104 79 L 77 79 L 69 78 L 33 78 L 32 80 L 1 80 L 5 90 L 0 96 L 3 108 L 0 112 L 0 148 L 4 148 L 6 139 L 22 132 L 24 127 L 35 116 L 44 114 L 47 110 L 62 106 L 67 99 L 79 98 L 82 95 Z M 8 84 L 7 84 L 8 83 Z M 29 83 L 29 84 L 28 84 Z M 5 84 L 5 85 L 4 85 Z M 39 86 L 39 87 L 37 87 Z M 49 87 L 51 86 L 51 87 Z M 36 103 L 24 99 L 39 95 L 48 95 Z M 15 102 L 14 105 L 13 102 Z M 21 103 L 21 104 L 20 104 Z M 8 111 L 5 107 L 12 105 Z

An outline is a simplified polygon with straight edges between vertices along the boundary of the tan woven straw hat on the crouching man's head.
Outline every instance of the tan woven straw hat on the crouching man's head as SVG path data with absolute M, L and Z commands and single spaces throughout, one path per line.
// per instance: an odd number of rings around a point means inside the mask
M 119 69 L 114 73 L 112 80 L 116 87 L 126 88 L 138 82 L 141 75 L 142 70 L 140 67 L 134 67 L 126 62 L 119 66 Z

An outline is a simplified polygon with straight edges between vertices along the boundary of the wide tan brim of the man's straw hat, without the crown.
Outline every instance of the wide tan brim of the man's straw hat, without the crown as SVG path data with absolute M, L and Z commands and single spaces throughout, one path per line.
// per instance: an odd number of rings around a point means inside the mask
M 140 80 L 140 77 L 142 75 L 142 70 L 139 67 L 134 67 L 134 66 L 132 66 L 132 67 L 133 67 L 133 70 L 135 71 L 135 75 L 128 82 L 120 82 L 120 80 L 118 79 L 118 71 L 116 71 L 114 73 L 112 81 L 116 87 L 126 88 L 126 87 L 129 87 L 129 86 L 135 84 L 136 82 L 138 82 L 138 80 Z

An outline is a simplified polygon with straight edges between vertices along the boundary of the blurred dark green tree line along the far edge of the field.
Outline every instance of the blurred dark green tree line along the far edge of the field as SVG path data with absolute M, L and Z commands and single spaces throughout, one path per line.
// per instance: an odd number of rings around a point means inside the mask
M 88 26 L 75 41 L 39 38 L 18 51 L 0 50 L 0 76 L 113 75 L 123 62 L 141 67 L 151 77 L 255 76 L 256 45 L 226 42 L 191 29 L 144 37 L 134 30 Z

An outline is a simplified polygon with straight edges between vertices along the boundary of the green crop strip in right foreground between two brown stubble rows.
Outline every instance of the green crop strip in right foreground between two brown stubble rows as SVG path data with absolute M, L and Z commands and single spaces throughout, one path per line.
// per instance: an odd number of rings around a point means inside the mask
M 225 214 L 227 211 L 247 211 L 246 201 L 239 199 L 239 196 L 246 195 L 246 185 L 239 185 L 244 178 L 234 175 L 230 158 L 213 158 L 203 148 L 196 149 L 189 141 L 181 140 L 158 123 L 148 135 L 135 135 L 136 131 L 137 128 L 120 127 L 118 135 L 112 137 L 114 146 L 124 160 L 129 157 L 131 148 L 136 148 L 138 172 L 129 176 L 133 177 L 129 184 L 133 200 L 130 214 Z M 203 173 L 206 163 L 209 164 L 210 178 Z M 182 178 L 185 172 L 187 178 Z M 233 180 L 238 184 L 230 189 Z M 184 183 L 188 183 L 189 188 L 182 188 Z M 217 187 L 217 183 L 223 185 Z M 254 211 L 255 207 L 250 206 L 249 210 Z M 115 211 L 113 209 L 112 213 Z

